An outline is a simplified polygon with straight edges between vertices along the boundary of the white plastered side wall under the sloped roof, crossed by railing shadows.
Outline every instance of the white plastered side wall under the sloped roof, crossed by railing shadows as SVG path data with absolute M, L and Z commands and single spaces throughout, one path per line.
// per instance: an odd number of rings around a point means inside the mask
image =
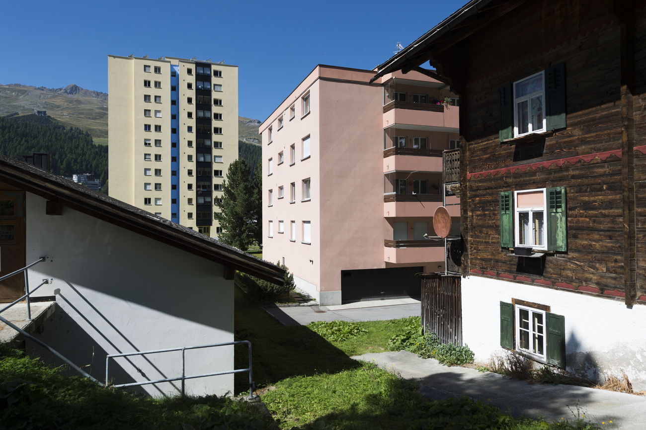
M 92 376 L 105 380 L 105 354 L 233 341 L 233 281 L 223 267 L 70 208 L 45 215 L 45 199 L 26 196 L 29 284 L 54 296 L 59 310 L 40 338 Z M 50 261 L 53 260 L 53 261 Z M 34 343 L 28 348 L 43 352 Z M 53 360 L 58 363 L 57 360 Z M 181 375 L 181 352 L 112 363 L 114 383 Z M 233 370 L 233 347 L 186 352 L 186 374 Z M 180 382 L 144 385 L 153 395 Z M 187 380 L 187 394 L 233 391 L 233 374 Z

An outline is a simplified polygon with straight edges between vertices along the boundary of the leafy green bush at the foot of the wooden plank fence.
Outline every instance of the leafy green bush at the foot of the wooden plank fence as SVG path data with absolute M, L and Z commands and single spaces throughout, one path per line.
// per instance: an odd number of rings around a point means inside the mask
M 435 358 L 446 365 L 474 362 L 474 352 L 468 345 L 441 343 L 433 332 L 424 334 L 420 317 L 408 317 L 406 328 L 390 338 L 388 345 L 393 351 L 407 350 L 421 358 Z

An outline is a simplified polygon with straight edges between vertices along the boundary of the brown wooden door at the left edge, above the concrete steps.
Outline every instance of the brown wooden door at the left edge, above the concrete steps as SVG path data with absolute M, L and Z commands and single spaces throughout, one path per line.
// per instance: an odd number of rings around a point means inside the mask
M 25 191 L 0 184 L 0 277 L 25 267 Z M 0 302 L 25 294 L 25 275 L 0 281 Z

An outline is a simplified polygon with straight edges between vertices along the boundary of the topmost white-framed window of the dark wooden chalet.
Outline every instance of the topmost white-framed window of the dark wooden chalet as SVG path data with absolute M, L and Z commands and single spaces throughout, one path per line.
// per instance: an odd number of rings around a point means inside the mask
M 545 71 L 514 82 L 514 137 L 547 129 Z

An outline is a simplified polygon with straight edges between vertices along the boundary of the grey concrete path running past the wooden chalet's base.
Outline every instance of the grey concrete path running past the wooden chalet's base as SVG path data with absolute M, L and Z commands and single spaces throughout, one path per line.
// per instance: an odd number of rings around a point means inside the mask
M 560 421 L 561 418 L 574 421 L 578 402 L 581 414 L 585 414 L 584 420 L 601 428 L 646 429 L 644 396 L 573 385 L 530 384 L 495 373 L 446 367 L 436 360 L 424 360 L 407 351 L 364 354 L 352 358 L 371 361 L 382 369 L 419 383 L 421 394 L 431 400 L 468 396 L 516 417 L 542 416 L 548 422 Z

